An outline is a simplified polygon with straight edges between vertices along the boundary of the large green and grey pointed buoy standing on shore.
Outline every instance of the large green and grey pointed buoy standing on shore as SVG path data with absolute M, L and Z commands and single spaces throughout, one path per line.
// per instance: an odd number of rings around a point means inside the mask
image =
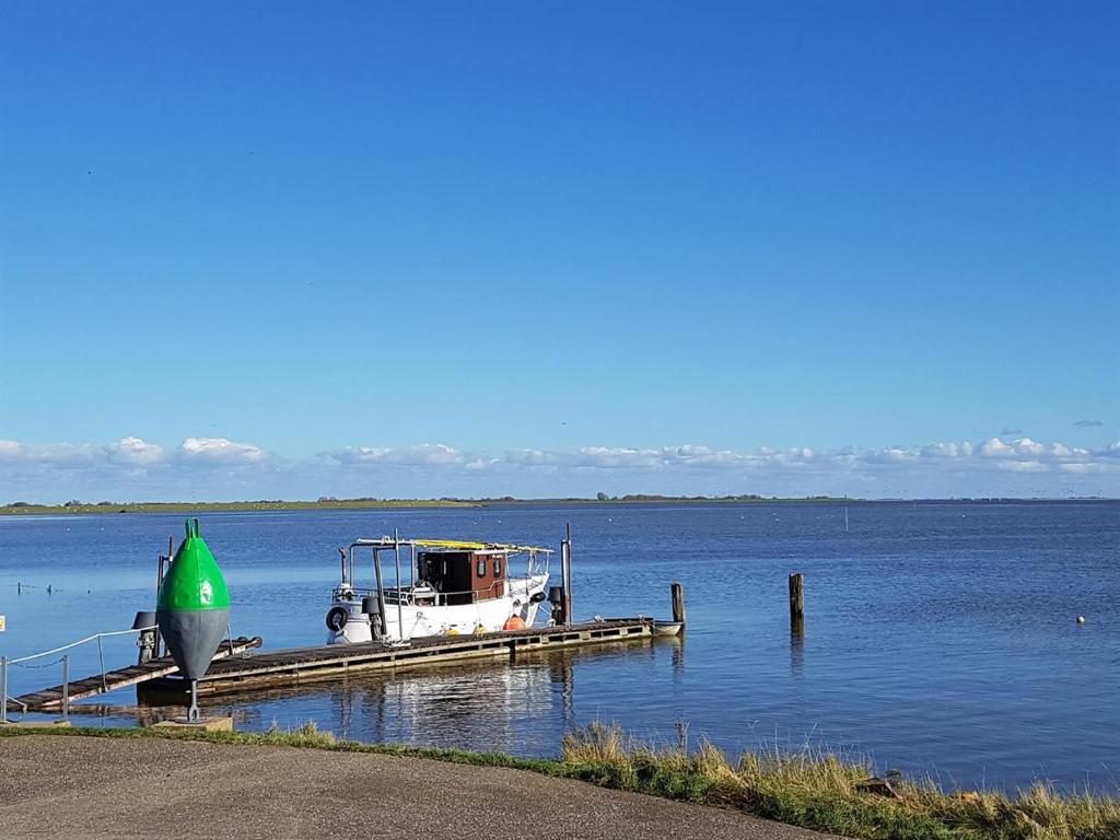
M 187 520 L 187 539 L 159 587 L 156 603 L 159 632 L 175 664 L 190 680 L 187 720 L 198 720 L 198 680 L 206 673 L 230 626 L 230 590 L 206 542 L 198 520 Z

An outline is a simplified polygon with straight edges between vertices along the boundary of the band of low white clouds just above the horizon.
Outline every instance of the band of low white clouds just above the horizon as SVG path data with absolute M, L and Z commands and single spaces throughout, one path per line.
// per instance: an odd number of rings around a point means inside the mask
M 355 446 L 289 458 L 226 438 L 166 448 L 0 440 L 0 502 L 332 496 L 1120 495 L 1120 441 L 1099 449 L 1030 438 L 878 449 L 740 452 L 700 445 L 472 452 L 447 444 Z M 94 498 L 96 497 L 96 500 Z

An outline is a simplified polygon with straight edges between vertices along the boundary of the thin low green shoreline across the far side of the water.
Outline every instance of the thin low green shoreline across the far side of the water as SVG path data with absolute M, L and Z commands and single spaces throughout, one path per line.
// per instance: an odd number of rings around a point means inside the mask
M 843 496 L 657 496 L 633 494 L 609 498 L 320 498 L 309 501 L 260 500 L 244 502 L 99 502 L 39 505 L 24 502 L 0 506 L 0 516 L 80 516 L 124 513 L 251 513 L 254 511 L 364 511 L 492 505 L 641 505 L 641 504 L 1007 504 L 1060 502 L 1116 502 L 1104 496 L 1072 498 L 846 498 Z

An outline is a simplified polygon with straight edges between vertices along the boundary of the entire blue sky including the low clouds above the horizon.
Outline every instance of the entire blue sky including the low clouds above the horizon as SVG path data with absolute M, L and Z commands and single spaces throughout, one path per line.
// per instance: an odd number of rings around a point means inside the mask
M 0 502 L 1120 495 L 1118 37 L 7 0 Z

